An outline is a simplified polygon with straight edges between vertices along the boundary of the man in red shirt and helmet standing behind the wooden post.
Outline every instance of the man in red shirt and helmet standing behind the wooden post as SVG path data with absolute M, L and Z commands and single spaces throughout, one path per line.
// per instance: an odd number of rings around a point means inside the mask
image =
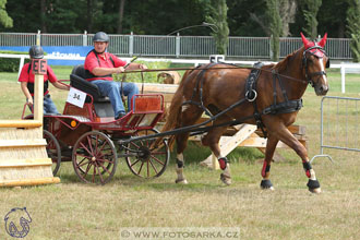
M 41 59 L 44 58 L 44 50 L 40 46 L 32 46 L 28 50 L 28 55 L 31 59 Z M 34 105 L 34 80 L 35 75 L 32 70 L 32 63 L 29 62 L 24 64 L 19 76 L 19 82 L 21 83 L 21 89 L 23 91 L 27 105 L 32 111 Z M 59 89 L 69 91 L 69 86 L 59 83 L 50 65 L 47 65 L 47 73 L 44 75 L 44 113 L 59 113 L 57 107 L 50 98 L 48 82 Z

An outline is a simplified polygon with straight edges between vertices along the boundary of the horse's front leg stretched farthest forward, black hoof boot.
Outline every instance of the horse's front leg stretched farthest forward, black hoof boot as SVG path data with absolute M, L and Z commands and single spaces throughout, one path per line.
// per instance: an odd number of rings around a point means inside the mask
M 275 129 L 274 129 L 275 130 Z M 315 171 L 312 169 L 308 157 L 307 148 L 292 135 L 292 133 L 285 127 L 278 127 L 277 131 L 275 130 L 276 136 L 291 147 L 302 159 L 302 166 L 305 171 L 307 177 L 309 178 L 308 188 L 310 192 L 320 193 L 321 188 L 316 179 Z

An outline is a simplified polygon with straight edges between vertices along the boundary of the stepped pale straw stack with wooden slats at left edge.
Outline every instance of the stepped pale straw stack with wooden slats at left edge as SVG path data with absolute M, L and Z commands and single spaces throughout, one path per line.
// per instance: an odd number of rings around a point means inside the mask
M 60 182 L 52 176 L 41 128 L 21 123 L 0 122 L 0 187 Z

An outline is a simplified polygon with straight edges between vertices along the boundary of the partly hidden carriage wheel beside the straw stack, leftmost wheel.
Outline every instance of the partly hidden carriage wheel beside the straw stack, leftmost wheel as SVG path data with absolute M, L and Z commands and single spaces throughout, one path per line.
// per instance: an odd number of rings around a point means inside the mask
M 46 152 L 48 157 L 52 160 L 52 175 L 56 176 L 59 171 L 61 164 L 61 148 L 57 139 L 49 132 L 43 131 L 44 139 L 46 140 Z

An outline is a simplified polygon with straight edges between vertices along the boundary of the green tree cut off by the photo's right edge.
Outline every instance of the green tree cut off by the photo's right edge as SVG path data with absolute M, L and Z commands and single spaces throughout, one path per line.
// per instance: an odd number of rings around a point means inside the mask
M 360 1 L 350 0 L 347 12 L 347 28 L 351 37 L 351 51 L 355 62 L 360 61 Z

